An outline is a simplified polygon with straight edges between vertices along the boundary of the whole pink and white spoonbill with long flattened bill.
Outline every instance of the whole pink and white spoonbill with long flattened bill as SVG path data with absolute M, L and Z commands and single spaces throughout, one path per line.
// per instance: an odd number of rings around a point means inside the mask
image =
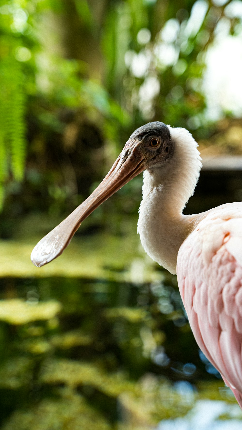
M 202 167 L 187 129 L 139 127 L 95 191 L 35 246 L 41 267 L 58 257 L 83 220 L 143 172 L 138 233 L 147 254 L 172 274 L 196 342 L 242 408 L 242 202 L 184 215 Z

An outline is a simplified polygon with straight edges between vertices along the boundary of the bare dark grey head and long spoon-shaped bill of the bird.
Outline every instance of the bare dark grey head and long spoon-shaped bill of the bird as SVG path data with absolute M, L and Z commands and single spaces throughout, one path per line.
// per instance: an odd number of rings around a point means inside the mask
M 135 130 L 96 190 L 37 243 L 31 253 L 32 262 L 41 267 L 58 257 L 94 209 L 145 169 L 165 164 L 173 152 L 170 131 L 164 123 L 156 121 Z

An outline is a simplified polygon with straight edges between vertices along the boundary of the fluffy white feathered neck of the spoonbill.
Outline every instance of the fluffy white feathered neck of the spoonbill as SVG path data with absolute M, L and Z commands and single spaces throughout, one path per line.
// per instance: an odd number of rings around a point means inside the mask
M 169 126 L 174 154 L 165 165 L 144 172 L 138 233 L 148 255 L 176 273 L 178 250 L 193 229 L 182 214 L 202 167 L 197 144 L 186 129 Z

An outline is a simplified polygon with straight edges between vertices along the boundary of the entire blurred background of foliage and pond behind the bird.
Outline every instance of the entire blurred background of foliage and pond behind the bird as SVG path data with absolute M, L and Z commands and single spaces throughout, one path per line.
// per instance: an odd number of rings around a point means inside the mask
M 141 249 L 141 175 L 30 261 L 149 121 L 199 143 L 186 213 L 242 200 L 241 75 L 241 0 L 0 0 L 1 430 L 241 428 Z

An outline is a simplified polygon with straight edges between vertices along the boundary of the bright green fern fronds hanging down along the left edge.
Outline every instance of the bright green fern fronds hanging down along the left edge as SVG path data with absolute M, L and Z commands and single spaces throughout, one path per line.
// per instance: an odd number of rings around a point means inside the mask
M 25 2 L 0 1 L 0 208 L 9 176 L 22 181 L 26 158 L 25 71 L 31 52 L 21 45 L 27 28 Z

